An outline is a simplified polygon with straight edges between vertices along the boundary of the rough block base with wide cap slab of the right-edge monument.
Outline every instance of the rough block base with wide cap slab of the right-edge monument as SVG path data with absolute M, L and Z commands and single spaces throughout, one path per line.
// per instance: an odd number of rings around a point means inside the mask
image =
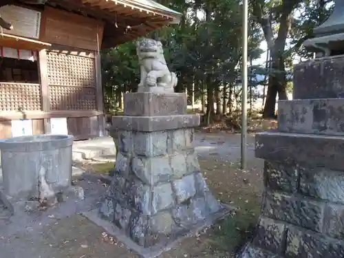
M 257 134 L 265 191 L 254 237 L 238 258 L 344 257 L 343 143 L 343 136 Z

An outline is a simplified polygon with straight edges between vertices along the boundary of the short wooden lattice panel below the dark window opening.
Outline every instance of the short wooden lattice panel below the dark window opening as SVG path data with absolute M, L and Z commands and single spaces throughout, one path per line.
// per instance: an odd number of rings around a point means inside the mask
M 41 110 L 41 85 L 0 83 L 0 110 Z

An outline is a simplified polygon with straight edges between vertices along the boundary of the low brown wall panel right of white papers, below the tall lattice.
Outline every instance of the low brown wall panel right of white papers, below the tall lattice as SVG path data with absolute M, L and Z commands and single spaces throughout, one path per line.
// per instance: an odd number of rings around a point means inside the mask
M 98 117 L 67 118 L 68 133 L 74 136 L 74 140 L 86 140 L 99 136 L 100 125 Z

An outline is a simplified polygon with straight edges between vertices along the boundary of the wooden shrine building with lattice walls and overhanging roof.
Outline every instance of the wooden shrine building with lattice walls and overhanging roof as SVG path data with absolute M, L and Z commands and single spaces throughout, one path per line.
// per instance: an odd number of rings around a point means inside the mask
M 1 0 L 0 17 L 0 138 L 81 140 L 105 131 L 100 50 L 180 14 L 151 0 Z

